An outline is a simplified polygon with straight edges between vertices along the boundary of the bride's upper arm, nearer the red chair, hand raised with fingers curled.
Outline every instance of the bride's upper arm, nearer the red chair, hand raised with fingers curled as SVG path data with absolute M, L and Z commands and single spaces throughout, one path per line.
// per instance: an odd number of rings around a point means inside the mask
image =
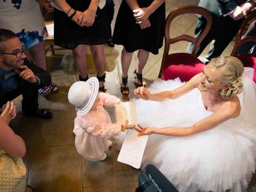
M 200 80 L 200 74 L 195 75 L 193 78 L 191 78 L 186 84 L 183 86 L 172 90 L 172 91 L 164 91 L 160 93 L 154 93 L 151 94 L 148 89 L 144 87 L 138 87 L 136 90 L 134 90 L 134 94 L 139 96 L 140 98 L 144 100 L 152 100 L 152 101 L 163 101 L 165 99 L 176 99 L 180 96 L 192 91 L 194 88 L 197 88 L 199 85 Z

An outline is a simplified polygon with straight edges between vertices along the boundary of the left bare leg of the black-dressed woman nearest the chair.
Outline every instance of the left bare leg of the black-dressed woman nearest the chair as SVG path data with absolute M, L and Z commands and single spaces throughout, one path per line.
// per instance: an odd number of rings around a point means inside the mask
M 132 54 L 129 53 L 123 48 L 122 54 L 121 54 L 121 66 L 122 66 L 122 77 L 126 78 L 128 76 L 128 70 L 130 67 L 130 64 L 132 62 Z M 121 87 L 124 87 L 123 82 L 121 82 Z M 126 87 L 128 87 L 128 84 L 126 84 Z M 128 94 L 128 91 L 123 91 L 123 94 Z

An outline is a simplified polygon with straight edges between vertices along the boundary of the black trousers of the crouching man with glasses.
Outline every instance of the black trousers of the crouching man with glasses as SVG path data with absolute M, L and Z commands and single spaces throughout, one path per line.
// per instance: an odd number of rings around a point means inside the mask
M 1 109 L 4 104 L 21 94 L 23 97 L 23 113 L 29 114 L 36 112 L 38 110 L 38 87 L 23 79 L 18 82 L 18 87 L 15 90 L 4 94 L 4 102 L 1 102 Z

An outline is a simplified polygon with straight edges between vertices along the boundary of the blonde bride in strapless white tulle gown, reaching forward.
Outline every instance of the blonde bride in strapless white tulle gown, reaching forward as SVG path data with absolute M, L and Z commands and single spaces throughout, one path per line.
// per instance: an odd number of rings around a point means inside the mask
M 154 164 L 179 192 L 239 192 L 255 172 L 256 85 L 235 57 L 214 58 L 187 83 L 156 80 L 134 93 Z

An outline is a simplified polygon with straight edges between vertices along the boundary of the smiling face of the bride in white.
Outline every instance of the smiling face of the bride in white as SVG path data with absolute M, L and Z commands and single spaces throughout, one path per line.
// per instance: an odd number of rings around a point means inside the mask
M 204 92 L 218 92 L 221 88 L 220 74 L 217 69 L 208 64 L 201 74 L 198 89 Z

